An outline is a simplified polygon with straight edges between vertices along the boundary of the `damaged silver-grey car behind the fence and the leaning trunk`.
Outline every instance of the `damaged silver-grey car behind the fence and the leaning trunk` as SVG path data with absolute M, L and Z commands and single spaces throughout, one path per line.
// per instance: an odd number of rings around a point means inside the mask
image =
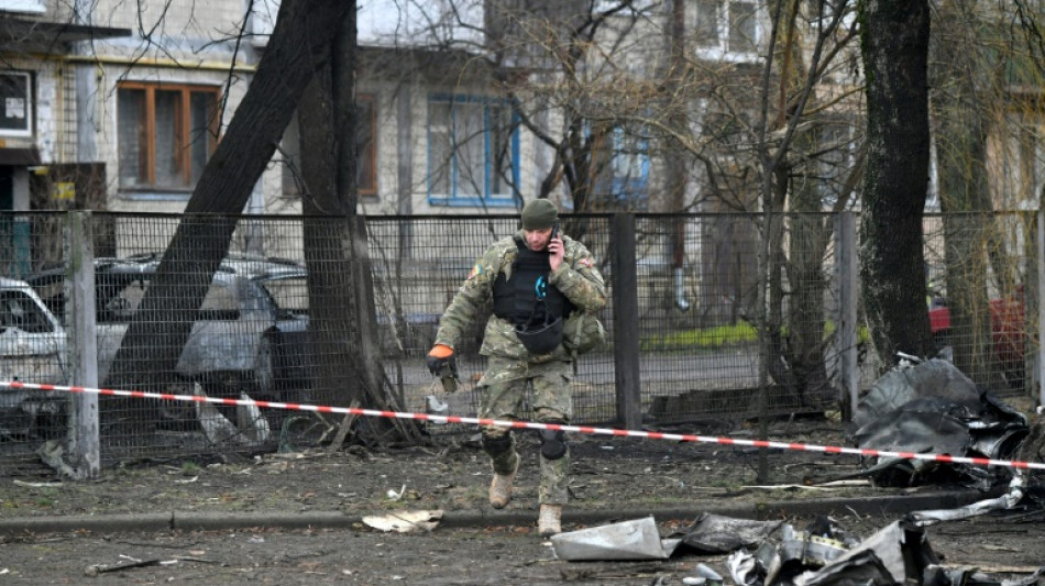
M 105 380 L 128 325 L 160 266 L 160 255 L 95 261 L 98 377 Z M 64 270 L 29 283 L 57 316 L 65 314 Z M 211 395 L 272 398 L 307 385 L 308 288 L 305 267 L 265 257 L 230 256 L 215 274 L 177 375 Z

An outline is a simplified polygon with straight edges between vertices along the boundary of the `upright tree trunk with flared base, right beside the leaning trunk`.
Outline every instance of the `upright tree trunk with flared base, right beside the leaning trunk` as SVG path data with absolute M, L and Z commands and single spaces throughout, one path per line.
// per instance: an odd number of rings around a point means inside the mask
M 298 111 L 312 379 L 317 396 L 331 402 L 402 411 L 386 392 L 366 222 L 356 213 L 355 14 L 353 5 L 330 66 L 317 71 Z M 370 431 L 397 428 L 399 438 L 419 439 L 409 422 L 369 423 Z

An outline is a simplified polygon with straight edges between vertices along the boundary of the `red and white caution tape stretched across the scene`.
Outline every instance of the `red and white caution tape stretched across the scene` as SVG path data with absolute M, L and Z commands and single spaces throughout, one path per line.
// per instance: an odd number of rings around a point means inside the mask
M 565 425 L 561 423 L 537 423 L 534 421 L 509 421 L 501 419 L 482 419 L 475 417 L 433 416 L 428 413 L 411 413 L 403 411 L 382 411 L 377 409 L 360 409 L 355 407 L 328 407 L 321 405 L 302 405 L 295 402 L 277 402 L 248 399 L 224 399 L 200 395 L 170 395 L 166 392 L 145 392 L 141 390 L 116 390 L 108 388 L 90 388 L 63 385 L 36 385 L 16 380 L 0 380 L 0 387 L 14 389 L 58 390 L 88 395 L 106 395 L 113 397 L 131 397 L 135 399 L 161 399 L 168 401 L 212 402 L 231 406 L 256 406 L 267 409 L 287 409 L 292 411 L 315 411 L 318 413 L 351 413 L 363 417 L 384 417 L 394 419 L 416 419 L 433 423 L 465 423 L 474 425 L 497 425 L 501 428 L 517 429 L 547 429 L 590 435 L 616 435 L 624 438 L 645 438 L 648 440 L 668 440 L 674 442 L 715 443 L 719 445 L 744 445 L 750 447 L 770 447 L 774 450 L 792 450 L 800 452 L 822 452 L 825 454 L 851 454 L 868 457 L 899 457 L 904 460 L 925 460 L 948 464 L 969 464 L 972 466 L 1005 466 L 1010 468 L 1045 471 L 1045 463 L 1020 462 L 1013 460 L 993 460 L 989 457 L 965 457 L 949 454 L 932 454 L 915 452 L 890 452 L 886 450 L 870 450 L 866 447 L 842 447 L 838 445 L 816 445 L 809 443 L 774 442 L 767 440 L 738 440 L 735 438 L 716 438 L 713 435 L 694 435 L 689 433 L 661 433 L 659 431 L 635 431 L 614 428 L 591 428 L 586 425 Z

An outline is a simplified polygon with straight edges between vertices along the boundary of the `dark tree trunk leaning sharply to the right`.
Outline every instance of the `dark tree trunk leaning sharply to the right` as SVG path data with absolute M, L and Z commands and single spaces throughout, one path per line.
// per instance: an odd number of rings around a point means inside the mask
M 235 229 L 234 218 L 220 214 L 243 210 L 312 73 L 329 59 L 349 5 L 341 0 L 287 0 L 280 5 L 257 74 L 204 168 L 107 386 L 162 388 L 173 380 L 196 311 Z M 201 213 L 208 215 L 196 215 Z

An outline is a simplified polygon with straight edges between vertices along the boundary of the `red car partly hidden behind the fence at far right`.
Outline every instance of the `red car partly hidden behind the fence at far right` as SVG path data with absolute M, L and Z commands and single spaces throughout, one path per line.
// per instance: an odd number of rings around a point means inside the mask
M 1025 378 L 1026 320 L 1023 288 L 1016 295 L 990 300 L 991 349 L 1010 383 L 1022 385 Z M 950 308 L 935 298 L 928 310 L 930 328 L 941 345 L 950 345 Z

